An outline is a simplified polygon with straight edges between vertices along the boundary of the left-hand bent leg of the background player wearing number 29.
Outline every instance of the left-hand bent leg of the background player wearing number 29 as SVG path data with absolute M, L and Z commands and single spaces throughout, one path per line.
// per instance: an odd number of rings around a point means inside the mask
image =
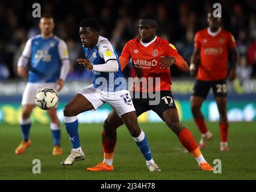
M 191 104 L 193 118 L 202 134 L 201 140 L 199 142 L 200 149 L 204 149 L 208 140 L 210 140 L 213 137 L 213 134 L 211 134 L 211 132 L 208 131 L 208 128 L 206 127 L 204 116 L 202 115 L 202 112 L 201 112 L 201 107 L 204 100 L 205 100 L 204 97 L 193 96 L 193 95 L 190 97 L 190 104 Z

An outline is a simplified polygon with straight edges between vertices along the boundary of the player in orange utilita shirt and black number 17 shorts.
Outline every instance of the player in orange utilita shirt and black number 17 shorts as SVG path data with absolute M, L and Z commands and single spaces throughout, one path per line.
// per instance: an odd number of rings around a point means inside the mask
M 133 95 L 136 95 L 137 91 L 140 96 L 135 96 L 132 99 L 137 116 L 148 110 L 153 110 L 178 136 L 187 151 L 195 157 L 199 167 L 202 170 L 213 170 L 202 156 L 190 131 L 181 124 L 171 92 L 170 65 L 176 65 L 181 71 L 189 71 L 187 62 L 179 55 L 173 44 L 157 37 L 155 35 L 156 31 L 157 22 L 154 16 L 145 15 L 141 17 L 139 20 L 140 37 L 128 41 L 123 47 L 122 55 L 119 57 L 122 70 L 131 58 L 136 70 L 136 77 L 142 77 L 141 82 L 135 83 L 136 85 L 133 88 Z M 157 77 L 160 78 L 159 86 L 149 85 L 150 79 L 157 82 Z M 156 97 L 152 98 L 154 92 Z M 157 97 L 159 102 L 153 104 L 152 101 Z M 105 120 L 104 131 L 102 132 L 104 160 L 95 167 L 87 168 L 87 170 L 104 171 L 109 170 L 108 166 L 113 167 L 114 147 L 117 140 L 116 129 L 122 124 L 122 119 L 113 110 Z M 141 133 L 137 139 L 141 140 L 143 137 L 144 133 Z

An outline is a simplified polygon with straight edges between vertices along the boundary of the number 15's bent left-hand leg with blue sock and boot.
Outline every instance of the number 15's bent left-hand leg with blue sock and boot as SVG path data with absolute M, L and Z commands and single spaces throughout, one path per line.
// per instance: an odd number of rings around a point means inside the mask
M 76 94 L 75 97 L 73 97 L 72 100 L 64 107 L 64 122 L 73 149 L 71 149 L 71 154 L 66 158 L 66 160 L 61 162 L 62 165 L 71 165 L 75 161 L 84 160 L 84 152 L 80 145 L 76 115 L 92 109 L 94 109 L 92 103 L 90 103 L 90 101 L 81 94 Z

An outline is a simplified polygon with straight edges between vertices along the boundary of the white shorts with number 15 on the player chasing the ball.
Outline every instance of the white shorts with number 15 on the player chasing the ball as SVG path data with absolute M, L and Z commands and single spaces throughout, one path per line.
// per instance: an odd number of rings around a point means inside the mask
M 78 93 L 86 97 L 92 103 L 95 110 L 102 106 L 102 104 L 108 103 L 118 116 L 135 111 L 130 92 L 127 90 L 105 92 L 95 89 L 93 85 L 90 85 Z

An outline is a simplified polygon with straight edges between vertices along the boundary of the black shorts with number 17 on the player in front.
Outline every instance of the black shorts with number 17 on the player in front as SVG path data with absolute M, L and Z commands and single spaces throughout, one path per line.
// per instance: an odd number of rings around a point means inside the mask
M 158 101 L 160 101 L 157 102 L 158 104 L 152 104 L 155 103 L 152 101 L 156 100 L 149 95 L 146 95 L 146 98 L 143 98 L 142 94 L 140 94 L 140 98 L 134 97 L 134 92 L 131 92 L 131 95 L 137 116 L 140 116 L 142 113 L 147 112 L 148 110 L 153 110 L 158 116 L 160 116 L 161 119 L 163 119 L 163 112 L 165 110 L 176 109 L 171 91 L 160 91 L 160 98 L 158 98 Z

